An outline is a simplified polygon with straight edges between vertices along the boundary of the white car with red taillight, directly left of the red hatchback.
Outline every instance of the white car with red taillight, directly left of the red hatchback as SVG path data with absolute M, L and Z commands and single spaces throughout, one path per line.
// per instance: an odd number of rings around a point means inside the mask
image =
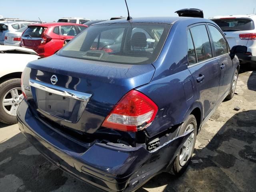
M 22 33 L 28 28 L 28 26 L 22 27 L 19 30 L 13 32 L 7 32 L 4 37 L 4 45 L 19 46 Z

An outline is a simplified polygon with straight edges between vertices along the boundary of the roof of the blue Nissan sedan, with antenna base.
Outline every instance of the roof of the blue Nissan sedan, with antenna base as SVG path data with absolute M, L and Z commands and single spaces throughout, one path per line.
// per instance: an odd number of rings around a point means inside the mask
M 107 20 L 92 25 L 100 24 L 114 24 L 114 23 L 163 23 L 163 24 L 173 24 L 178 20 L 193 20 L 194 22 L 207 22 L 208 19 L 204 18 L 194 18 L 194 17 L 142 17 L 142 18 L 132 18 L 132 20 L 116 19 Z

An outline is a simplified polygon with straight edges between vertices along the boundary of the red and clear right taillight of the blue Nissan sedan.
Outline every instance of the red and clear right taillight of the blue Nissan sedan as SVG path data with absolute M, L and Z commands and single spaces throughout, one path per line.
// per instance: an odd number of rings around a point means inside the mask
M 121 131 L 136 132 L 148 127 L 158 107 L 146 95 L 131 90 L 114 106 L 102 126 Z

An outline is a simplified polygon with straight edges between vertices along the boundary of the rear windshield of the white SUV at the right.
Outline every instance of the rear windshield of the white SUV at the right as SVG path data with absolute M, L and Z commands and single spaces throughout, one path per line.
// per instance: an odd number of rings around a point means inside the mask
M 254 22 L 250 19 L 214 19 L 214 21 L 222 31 L 247 31 L 254 30 Z

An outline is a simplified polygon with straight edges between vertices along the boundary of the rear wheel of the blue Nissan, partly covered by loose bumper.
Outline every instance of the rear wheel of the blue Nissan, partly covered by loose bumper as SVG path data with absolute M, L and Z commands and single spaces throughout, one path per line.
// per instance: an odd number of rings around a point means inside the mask
M 174 164 L 171 169 L 171 173 L 180 176 L 188 167 L 191 160 L 192 154 L 194 152 L 194 147 L 196 144 L 196 134 L 197 134 L 197 122 L 194 115 L 188 116 L 188 119 L 180 127 L 179 136 L 184 134 L 187 130 L 194 128 L 194 132 L 190 135 L 188 140 L 184 143 L 180 149 L 180 153 L 174 160 Z M 187 143 L 187 144 L 186 144 Z

